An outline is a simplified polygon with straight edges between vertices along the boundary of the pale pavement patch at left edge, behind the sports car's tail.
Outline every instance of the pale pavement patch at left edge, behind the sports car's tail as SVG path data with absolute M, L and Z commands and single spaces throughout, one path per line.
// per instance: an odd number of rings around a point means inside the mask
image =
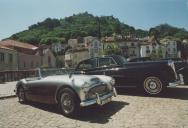
M 0 98 L 15 95 L 14 89 L 17 81 L 6 82 L 0 84 Z

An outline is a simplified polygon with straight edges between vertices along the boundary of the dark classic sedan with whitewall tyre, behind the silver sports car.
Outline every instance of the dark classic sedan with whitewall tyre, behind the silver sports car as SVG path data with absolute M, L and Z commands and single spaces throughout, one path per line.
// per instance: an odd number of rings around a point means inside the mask
M 158 95 L 167 86 L 181 82 L 172 61 L 128 63 L 122 56 L 111 55 L 83 60 L 75 70 L 112 76 L 116 88 L 139 87 L 149 95 Z

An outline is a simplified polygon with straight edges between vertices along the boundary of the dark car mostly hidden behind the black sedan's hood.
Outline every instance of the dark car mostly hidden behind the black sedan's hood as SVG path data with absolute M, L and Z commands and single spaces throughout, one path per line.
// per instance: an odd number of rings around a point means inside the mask
M 128 62 L 144 62 L 144 61 L 174 61 L 177 74 L 182 76 L 181 84 L 188 85 L 188 62 L 181 58 L 165 58 L 160 60 L 154 60 L 150 57 L 139 57 L 129 59 Z

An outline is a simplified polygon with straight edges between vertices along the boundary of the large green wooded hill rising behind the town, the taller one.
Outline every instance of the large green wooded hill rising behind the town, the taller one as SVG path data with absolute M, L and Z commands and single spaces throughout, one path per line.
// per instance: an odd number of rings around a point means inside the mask
M 34 44 L 48 44 L 51 42 L 64 43 L 67 39 L 84 36 L 111 36 L 114 33 L 122 35 L 136 33 L 138 37 L 148 34 L 147 31 L 141 29 L 135 30 L 134 27 L 120 22 L 113 16 L 97 17 L 85 12 L 63 19 L 47 18 L 29 26 L 28 30 L 13 34 L 10 38 Z

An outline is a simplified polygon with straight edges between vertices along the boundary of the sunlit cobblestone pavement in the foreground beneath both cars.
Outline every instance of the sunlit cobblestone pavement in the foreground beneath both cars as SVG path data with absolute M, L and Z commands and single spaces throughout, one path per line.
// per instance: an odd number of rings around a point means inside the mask
M 0 100 L 0 128 L 188 128 L 188 87 L 169 89 L 161 97 L 134 90 L 103 107 L 81 110 L 77 119 L 61 115 L 57 106 Z

